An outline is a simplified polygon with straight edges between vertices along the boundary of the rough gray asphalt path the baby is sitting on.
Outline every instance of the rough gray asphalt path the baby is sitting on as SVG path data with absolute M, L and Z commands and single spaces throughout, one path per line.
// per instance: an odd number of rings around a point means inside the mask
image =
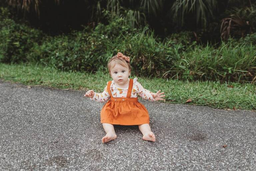
M 0 80 L 0 171 L 256 170 L 256 112 L 140 99 L 156 142 L 115 125 L 102 144 L 103 103 L 84 93 Z

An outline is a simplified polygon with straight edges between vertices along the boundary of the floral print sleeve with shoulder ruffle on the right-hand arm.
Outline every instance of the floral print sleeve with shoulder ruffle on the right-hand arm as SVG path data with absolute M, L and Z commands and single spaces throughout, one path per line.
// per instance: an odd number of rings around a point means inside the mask
M 133 79 L 133 92 L 137 93 L 140 97 L 142 97 L 145 100 L 156 101 L 151 94 L 152 92 L 143 88 L 142 85 L 139 82 L 137 82 L 137 80 L 137 77 Z

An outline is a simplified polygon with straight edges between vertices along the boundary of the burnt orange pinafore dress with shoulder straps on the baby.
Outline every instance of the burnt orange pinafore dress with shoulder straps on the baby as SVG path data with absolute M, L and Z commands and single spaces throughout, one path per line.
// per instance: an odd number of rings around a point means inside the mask
M 100 122 L 115 125 L 149 124 L 148 110 L 138 102 L 138 97 L 131 98 L 133 79 L 130 79 L 126 97 L 113 97 L 110 91 L 111 81 L 107 84 L 110 99 L 100 112 Z

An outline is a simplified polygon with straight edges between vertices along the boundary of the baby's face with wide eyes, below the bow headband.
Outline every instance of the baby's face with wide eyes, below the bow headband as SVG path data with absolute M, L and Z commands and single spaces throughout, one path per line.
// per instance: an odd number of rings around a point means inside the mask
M 129 71 L 128 67 L 124 67 L 120 64 L 116 64 L 113 68 L 110 69 L 110 74 L 112 79 L 115 81 L 115 83 L 122 88 L 125 88 L 128 84 L 129 76 L 131 72 Z M 123 87 L 125 86 L 125 87 Z

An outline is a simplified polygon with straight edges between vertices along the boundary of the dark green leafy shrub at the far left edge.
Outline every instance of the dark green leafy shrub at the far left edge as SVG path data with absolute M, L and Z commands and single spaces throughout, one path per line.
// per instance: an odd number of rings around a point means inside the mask
M 10 18 L 6 8 L 0 8 L 0 61 L 1 62 L 26 62 L 27 53 L 40 42 L 42 33 L 25 24 L 18 24 Z

